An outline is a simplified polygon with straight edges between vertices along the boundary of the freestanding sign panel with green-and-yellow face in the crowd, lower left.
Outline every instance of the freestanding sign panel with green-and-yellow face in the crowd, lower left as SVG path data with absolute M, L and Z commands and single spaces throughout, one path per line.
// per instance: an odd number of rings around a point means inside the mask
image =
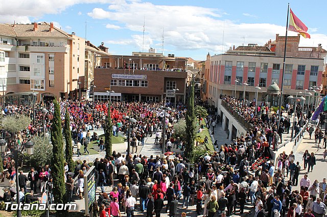
M 96 200 L 95 166 L 92 166 L 84 175 L 85 214 L 92 213 L 93 203 Z

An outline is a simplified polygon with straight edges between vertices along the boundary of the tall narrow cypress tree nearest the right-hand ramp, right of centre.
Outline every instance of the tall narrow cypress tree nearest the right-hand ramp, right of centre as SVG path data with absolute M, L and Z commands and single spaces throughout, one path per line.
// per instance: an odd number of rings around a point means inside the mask
M 196 129 L 196 117 L 194 113 L 194 79 L 192 78 L 190 95 L 188 101 L 188 111 L 186 111 L 186 144 L 185 144 L 185 157 L 191 162 L 194 158 L 194 140 L 195 140 L 195 129 Z

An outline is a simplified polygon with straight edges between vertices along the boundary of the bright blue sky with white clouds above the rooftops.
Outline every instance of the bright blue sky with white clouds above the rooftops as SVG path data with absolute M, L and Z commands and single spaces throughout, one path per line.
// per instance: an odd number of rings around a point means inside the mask
M 143 1 L 143 0 L 0 0 L 0 22 L 53 21 L 55 26 L 101 42 L 114 55 L 131 55 L 154 47 L 164 54 L 204 60 L 207 52 L 221 53 L 243 43 L 263 45 L 275 34 L 285 35 L 287 1 Z M 308 26 L 311 39 L 301 46 L 327 49 L 326 1 L 289 1 Z M 145 40 L 143 22 L 145 17 Z M 224 32 L 224 37 L 223 37 Z M 296 33 L 289 33 L 296 35 Z

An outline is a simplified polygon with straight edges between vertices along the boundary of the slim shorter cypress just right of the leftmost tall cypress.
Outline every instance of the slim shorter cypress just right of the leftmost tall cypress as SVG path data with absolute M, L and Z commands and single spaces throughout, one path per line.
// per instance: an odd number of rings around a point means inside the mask
M 63 128 L 63 133 L 65 134 L 65 141 L 66 141 L 66 162 L 68 163 L 69 172 L 73 172 L 74 161 L 73 161 L 73 148 L 72 148 L 71 119 L 69 117 L 67 106 L 66 106 L 65 125 Z

